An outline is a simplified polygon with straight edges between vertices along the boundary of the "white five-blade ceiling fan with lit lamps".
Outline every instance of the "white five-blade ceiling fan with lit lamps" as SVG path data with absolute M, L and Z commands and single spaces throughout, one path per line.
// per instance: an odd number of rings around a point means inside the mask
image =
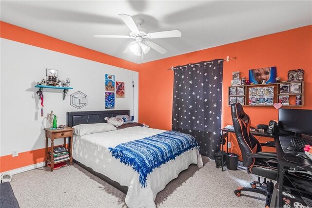
M 132 41 L 128 47 L 124 50 L 125 53 L 132 52 L 136 56 L 141 56 L 147 54 L 151 48 L 157 51 L 160 54 L 167 53 L 167 50 L 155 42 L 149 40 L 154 38 L 177 38 L 181 37 L 181 32 L 179 30 L 170 30 L 170 31 L 162 31 L 155 33 L 148 33 L 148 31 L 141 26 L 143 24 L 144 19 L 137 18 L 136 22 L 132 19 L 131 16 L 126 14 L 118 14 L 119 17 L 126 23 L 126 25 L 131 30 L 129 36 L 119 36 L 119 35 L 94 35 L 95 38 L 132 38 L 135 41 Z M 137 23 L 137 24 L 136 24 Z

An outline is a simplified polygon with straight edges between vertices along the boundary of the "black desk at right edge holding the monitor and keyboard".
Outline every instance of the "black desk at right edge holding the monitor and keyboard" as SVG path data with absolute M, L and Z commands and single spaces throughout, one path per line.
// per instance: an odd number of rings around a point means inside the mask
M 312 139 L 311 139 L 312 140 Z M 295 168 L 298 170 L 310 170 L 312 171 L 312 166 L 306 162 L 305 160 L 299 160 L 292 153 L 285 153 L 282 149 L 281 140 L 279 139 L 279 135 L 274 136 L 274 143 L 277 153 L 278 159 L 278 184 L 279 184 L 279 197 L 277 202 L 277 207 L 283 207 L 283 189 L 288 188 L 291 190 L 296 190 L 293 187 L 289 187 L 288 185 L 284 185 L 285 183 L 285 168 Z M 312 193 L 306 191 L 300 191 L 301 193 L 310 194 L 312 198 Z

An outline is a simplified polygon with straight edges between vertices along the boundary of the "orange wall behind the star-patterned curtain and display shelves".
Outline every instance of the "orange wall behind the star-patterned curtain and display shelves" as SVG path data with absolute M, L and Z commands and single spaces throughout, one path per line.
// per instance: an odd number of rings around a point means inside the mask
M 232 72 L 235 71 L 239 71 L 241 77 L 248 78 L 249 69 L 276 66 L 277 76 L 286 80 L 289 70 L 304 69 L 304 107 L 301 109 L 312 109 L 312 25 L 310 25 L 139 64 L 139 122 L 146 123 L 152 128 L 171 129 L 174 76 L 173 71 L 167 69 L 227 56 L 236 59 L 224 62 L 222 127 L 232 124 L 227 95 Z M 245 107 L 244 110 L 250 115 L 252 126 L 268 124 L 271 119 L 278 119 L 278 110 L 273 107 Z M 232 151 L 235 152 L 237 145 L 233 144 L 232 147 Z

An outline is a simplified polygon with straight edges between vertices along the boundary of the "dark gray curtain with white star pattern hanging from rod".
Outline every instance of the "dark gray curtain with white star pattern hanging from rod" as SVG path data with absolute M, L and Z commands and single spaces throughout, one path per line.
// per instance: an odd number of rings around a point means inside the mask
M 193 135 L 200 153 L 214 159 L 220 149 L 223 61 L 175 68 L 172 130 Z

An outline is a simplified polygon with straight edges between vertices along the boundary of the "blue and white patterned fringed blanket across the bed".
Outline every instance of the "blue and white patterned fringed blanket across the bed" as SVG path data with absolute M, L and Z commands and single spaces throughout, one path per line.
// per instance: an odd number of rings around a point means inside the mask
M 147 174 L 193 148 L 199 148 L 193 136 L 168 131 L 122 143 L 109 149 L 113 157 L 119 158 L 120 162 L 130 165 L 139 173 L 139 182 L 142 187 L 145 187 Z

